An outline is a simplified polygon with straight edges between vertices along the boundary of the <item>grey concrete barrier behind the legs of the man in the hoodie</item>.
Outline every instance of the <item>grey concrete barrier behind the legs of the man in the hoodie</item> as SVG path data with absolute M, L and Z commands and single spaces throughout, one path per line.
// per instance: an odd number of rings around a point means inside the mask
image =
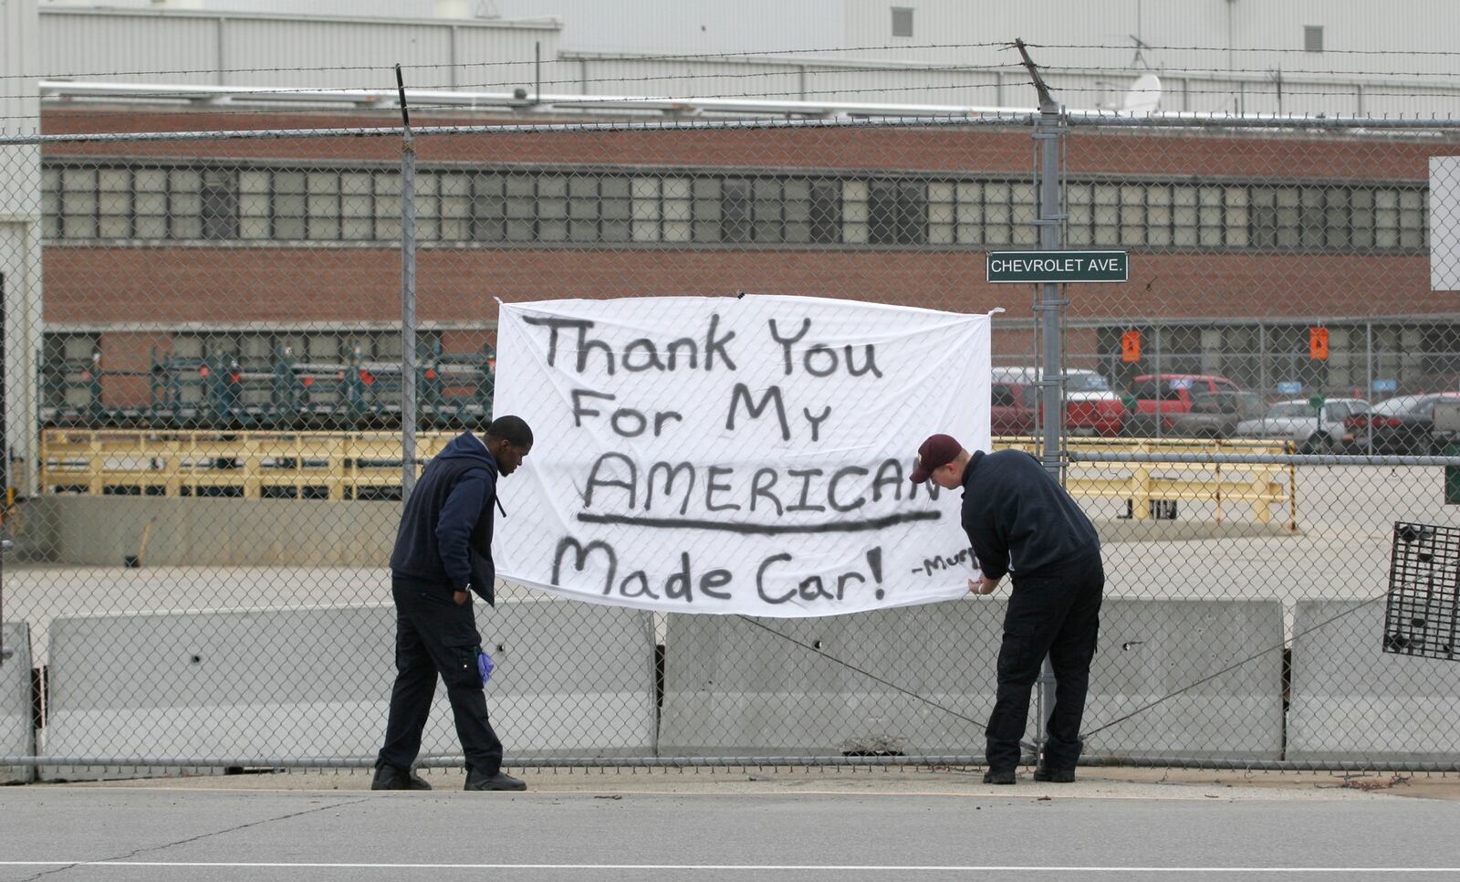
M 653 753 L 648 613 L 520 600 L 479 605 L 477 628 L 510 758 Z M 50 659 L 48 756 L 372 756 L 394 607 L 55 618 Z M 439 682 L 422 755 L 460 755 Z

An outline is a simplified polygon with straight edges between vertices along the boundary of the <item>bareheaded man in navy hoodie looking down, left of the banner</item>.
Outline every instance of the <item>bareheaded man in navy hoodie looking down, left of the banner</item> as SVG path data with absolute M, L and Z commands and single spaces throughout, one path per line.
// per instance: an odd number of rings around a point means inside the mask
M 486 718 L 476 660 L 482 637 L 472 613 L 472 593 L 489 606 L 495 600 L 492 507 L 501 508 L 496 479 L 515 472 L 531 448 L 533 431 L 518 416 L 492 421 L 485 438 L 461 432 L 432 457 L 406 501 L 390 555 L 396 688 L 371 790 L 431 790 L 412 765 L 420 752 L 438 673 L 466 753 L 466 789 L 527 789 L 502 771 L 502 742 Z

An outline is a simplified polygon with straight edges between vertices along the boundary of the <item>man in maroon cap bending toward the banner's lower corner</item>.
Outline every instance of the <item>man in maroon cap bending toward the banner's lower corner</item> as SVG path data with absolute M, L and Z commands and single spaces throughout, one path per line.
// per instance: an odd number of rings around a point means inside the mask
M 964 532 L 983 571 L 983 578 L 968 580 L 968 590 L 990 594 L 1006 572 L 1013 578 L 999 645 L 999 697 L 984 730 L 984 783 L 1015 781 L 1029 692 L 1045 656 L 1054 667 L 1054 710 L 1034 780 L 1073 781 L 1105 588 L 1095 526 L 1040 460 L 1022 451 L 969 454 L 949 435 L 931 435 L 912 469 L 912 482 L 924 480 L 964 489 Z

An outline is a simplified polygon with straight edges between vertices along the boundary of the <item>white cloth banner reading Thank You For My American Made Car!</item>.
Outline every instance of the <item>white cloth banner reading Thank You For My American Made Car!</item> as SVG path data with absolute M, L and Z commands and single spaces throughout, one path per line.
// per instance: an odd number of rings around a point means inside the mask
M 689 613 L 959 597 L 962 494 L 908 476 L 933 432 L 988 450 L 988 329 L 797 296 L 502 304 L 492 412 L 536 442 L 498 485 L 498 574 Z

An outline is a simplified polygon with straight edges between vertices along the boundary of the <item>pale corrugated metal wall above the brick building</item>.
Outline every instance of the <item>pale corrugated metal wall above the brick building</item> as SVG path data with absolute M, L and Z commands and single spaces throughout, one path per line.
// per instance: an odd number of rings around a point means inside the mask
M 912 10 L 912 37 L 892 35 L 894 6 Z M 517 16 L 543 7 L 498 0 L 496 9 Z M 1460 4 L 1442 0 L 1396 0 L 1384 9 L 1364 0 L 1064 0 L 1038 7 L 561 0 L 553 9 L 564 16 L 561 29 L 482 19 L 51 7 L 41 16 L 42 70 L 114 82 L 388 88 L 390 66 L 400 61 L 426 66 L 410 72 L 413 86 L 511 92 L 531 89 L 536 50 L 549 93 L 1031 107 L 1034 91 L 1006 45 L 1023 37 L 1037 44 L 1040 64 L 1058 72 L 1050 80 L 1072 108 L 1120 107 L 1146 69 L 1161 73 L 1161 107 L 1172 111 L 1447 115 L 1460 98 L 1454 57 L 1424 54 L 1448 50 L 1445 34 L 1460 29 Z M 1415 20 L 1426 25 L 1415 28 Z M 1302 51 L 1310 25 L 1323 28 L 1327 51 Z M 1136 37 L 1158 47 L 1212 48 L 1137 54 Z M 1288 51 L 1248 51 L 1254 47 Z M 644 57 L 794 50 L 804 51 L 794 60 Z M 165 73 L 126 73 L 139 70 Z

